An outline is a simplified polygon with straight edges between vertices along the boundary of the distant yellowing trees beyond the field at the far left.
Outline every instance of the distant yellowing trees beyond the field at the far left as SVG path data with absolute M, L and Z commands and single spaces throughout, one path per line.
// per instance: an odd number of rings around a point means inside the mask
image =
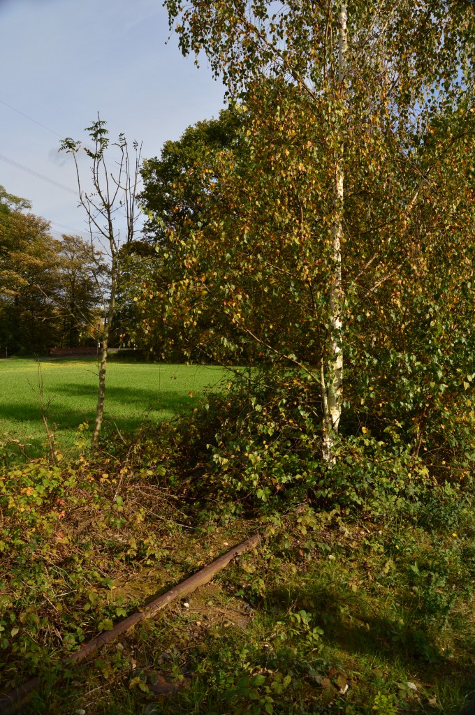
M 54 239 L 29 209 L 0 187 L 0 348 L 44 352 L 96 339 L 107 275 L 99 252 L 78 236 Z

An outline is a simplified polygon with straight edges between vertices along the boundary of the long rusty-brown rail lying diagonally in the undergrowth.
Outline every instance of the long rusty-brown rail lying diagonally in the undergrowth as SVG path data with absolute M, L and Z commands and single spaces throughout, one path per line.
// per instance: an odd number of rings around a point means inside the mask
M 258 546 L 260 538 L 260 534 L 255 534 L 254 536 L 246 539 L 246 541 L 243 541 L 243 543 L 240 543 L 238 546 L 234 546 L 230 549 L 230 551 L 223 554 L 223 556 L 217 558 L 216 561 L 213 561 L 208 566 L 201 568 L 200 571 L 197 571 L 197 573 L 193 574 L 193 576 L 185 578 L 185 581 L 182 581 L 182 583 L 179 583 L 177 586 L 170 588 L 170 591 L 163 593 L 162 596 L 155 598 L 155 601 L 149 603 L 143 611 L 132 613 L 131 616 L 124 618 L 123 621 L 120 621 L 116 626 L 114 626 L 114 628 L 112 628 L 112 631 L 99 633 L 99 636 L 92 638 L 92 641 L 84 644 L 78 651 L 74 651 L 74 653 L 62 660 L 61 664 L 70 667 L 74 664 L 80 663 L 94 653 L 94 651 L 112 643 L 115 638 L 122 635 L 122 633 L 125 633 L 125 631 L 128 631 L 129 628 L 132 628 L 132 626 L 136 626 L 137 623 L 145 621 L 146 618 L 155 616 L 155 613 L 160 611 L 162 608 L 165 608 L 168 603 L 172 603 L 172 601 L 175 601 L 177 598 L 183 598 L 189 593 L 192 593 L 192 591 L 196 591 L 197 588 L 200 588 L 200 586 L 203 586 L 208 581 L 211 581 L 212 577 L 219 571 L 222 571 L 222 569 L 225 568 L 225 566 L 227 566 L 233 558 L 240 556 L 241 553 L 248 551 L 250 548 Z M 26 683 L 15 688 L 9 694 L 1 698 L 0 715 L 13 715 L 14 713 L 21 711 L 22 701 L 26 698 L 26 696 L 38 688 L 40 682 L 40 676 L 31 678 L 29 681 L 26 681 Z

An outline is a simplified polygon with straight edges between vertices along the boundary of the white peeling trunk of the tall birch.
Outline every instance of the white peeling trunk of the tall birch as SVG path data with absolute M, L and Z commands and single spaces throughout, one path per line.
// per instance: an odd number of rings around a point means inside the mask
M 343 92 L 346 74 L 346 4 L 341 5 L 338 15 L 338 93 Z M 343 350 L 341 345 L 343 320 L 343 287 L 341 284 L 341 242 L 343 239 L 343 138 L 339 138 L 335 170 L 335 220 L 331 231 L 333 280 L 330 289 L 330 335 L 328 338 L 328 373 L 321 365 L 321 388 L 323 401 L 323 458 L 333 460 L 333 443 L 338 433 L 343 393 Z

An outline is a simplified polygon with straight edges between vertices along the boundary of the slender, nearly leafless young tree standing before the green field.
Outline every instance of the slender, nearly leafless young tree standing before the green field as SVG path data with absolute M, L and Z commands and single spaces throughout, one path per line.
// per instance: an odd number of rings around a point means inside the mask
M 86 213 L 89 227 L 92 257 L 97 257 L 96 281 L 102 295 L 104 326 L 100 332 L 101 356 L 99 363 L 99 389 L 97 393 L 96 418 L 92 433 L 92 448 L 97 448 L 104 415 L 106 388 L 107 349 L 109 335 L 114 320 L 117 290 L 121 280 L 122 262 L 134 240 L 134 232 L 139 219 L 137 192 L 139 189 L 139 166 L 141 147 L 132 144 L 132 152 L 124 134 L 119 134 L 117 142 L 109 141 L 106 122 L 97 118 L 86 131 L 92 141 L 92 148 L 68 137 L 61 144 L 60 151 L 71 154 L 76 168 L 79 204 Z M 85 189 L 79 172 L 78 152 L 83 149 L 91 159 L 91 186 Z M 111 149 L 115 149 L 115 152 Z M 114 164 L 109 162 L 114 161 Z M 113 167 L 113 168 L 111 168 Z M 122 236 L 121 236 L 122 228 Z M 94 250 L 94 241 L 99 242 L 109 262 L 107 287 L 100 280 L 104 265 Z

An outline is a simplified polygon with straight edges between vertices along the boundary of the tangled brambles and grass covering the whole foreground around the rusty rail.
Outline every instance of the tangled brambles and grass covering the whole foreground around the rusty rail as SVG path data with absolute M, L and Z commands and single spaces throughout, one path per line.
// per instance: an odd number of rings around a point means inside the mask
M 461 713 L 475 694 L 469 472 L 453 460 L 443 478 L 398 425 L 343 435 L 324 465 L 304 389 L 233 384 L 94 457 L 1 467 L 1 689 L 42 677 L 24 712 Z M 59 668 L 255 531 L 263 545 L 210 598 Z M 159 694 L 163 679 L 182 687 Z

